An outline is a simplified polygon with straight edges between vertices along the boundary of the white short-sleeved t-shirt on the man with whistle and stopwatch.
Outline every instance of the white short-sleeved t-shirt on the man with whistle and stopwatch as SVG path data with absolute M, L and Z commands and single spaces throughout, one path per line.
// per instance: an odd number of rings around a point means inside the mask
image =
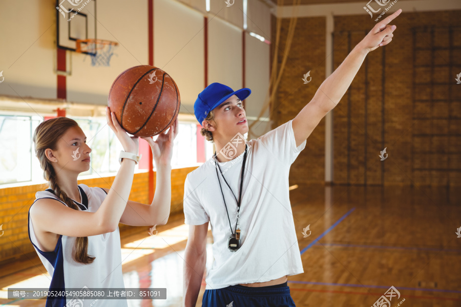
M 213 158 L 188 173 L 185 180 L 185 224 L 210 222 L 213 233 L 214 262 L 206 276 L 205 289 L 304 273 L 289 200 L 288 173 L 306 141 L 296 147 L 290 120 L 246 144 L 248 153 L 240 206 L 241 246 L 236 252 L 227 247 L 231 227 Z M 237 199 L 243 155 L 218 162 Z M 235 231 L 237 202 L 219 171 L 218 174 Z

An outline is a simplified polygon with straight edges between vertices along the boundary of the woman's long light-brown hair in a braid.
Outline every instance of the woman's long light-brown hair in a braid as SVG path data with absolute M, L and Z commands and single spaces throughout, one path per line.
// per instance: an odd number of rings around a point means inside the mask
M 35 144 L 35 155 L 40 161 L 41 169 L 43 169 L 43 177 L 48 181 L 50 188 L 69 208 L 78 210 L 77 205 L 59 188 L 56 172 L 50 160 L 45 155 L 47 148 L 57 150 L 57 141 L 59 138 L 66 133 L 67 129 L 74 126 L 78 126 L 78 123 L 67 117 L 49 119 L 40 123 L 35 128 L 33 142 Z M 75 261 L 82 264 L 91 264 L 94 261 L 95 257 L 88 255 L 88 237 L 77 237 L 72 257 Z

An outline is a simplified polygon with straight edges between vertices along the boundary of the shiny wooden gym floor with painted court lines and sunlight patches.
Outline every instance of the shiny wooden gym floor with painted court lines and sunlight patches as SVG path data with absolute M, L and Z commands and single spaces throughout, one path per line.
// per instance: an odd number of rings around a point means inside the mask
M 461 227 L 460 199 L 459 189 L 430 187 L 300 185 L 291 190 L 304 267 L 303 274 L 288 280 L 296 305 L 368 307 L 393 286 L 400 298 L 393 297 L 391 307 L 400 302 L 404 307 L 461 306 L 461 238 L 455 234 Z M 129 306 L 181 306 L 183 221 L 172 216 L 168 225 L 157 227 L 156 236 L 139 227 L 140 233 L 122 238 L 125 287 L 167 289 L 166 300 L 129 300 Z M 308 225 L 311 234 L 304 237 Z M 207 268 L 213 261 L 211 244 L 208 232 Z M 37 256 L 0 268 L 0 304 L 45 305 L 45 300 L 6 299 L 9 287 L 48 287 L 44 272 Z

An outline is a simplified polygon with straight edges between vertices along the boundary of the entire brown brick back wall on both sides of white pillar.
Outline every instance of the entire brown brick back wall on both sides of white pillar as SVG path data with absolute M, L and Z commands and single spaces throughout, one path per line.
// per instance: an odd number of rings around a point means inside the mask
M 461 73 L 459 14 L 402 13 L 390 45 L 368 54 L 332 111 L 335 184 L 460 185 L 461 85 L 454 80 Z M 374 25 L 368 14 L 334 17 L 333 70 Z M 288 26 L 284 18 L 279 68 Z M 274 54 L 274 17 L 271 29 Z M 273 128 L 294 118 L 325 79 L 325 46 L 325 18 L 298 18 L 271 114 Z M 303 84 L 309 70 L 312 81 Z M 325 119 L 291 167 L 294 183 L 324 182 L 324 134 Z M 381 161 L 385 147 L 388 158 Z

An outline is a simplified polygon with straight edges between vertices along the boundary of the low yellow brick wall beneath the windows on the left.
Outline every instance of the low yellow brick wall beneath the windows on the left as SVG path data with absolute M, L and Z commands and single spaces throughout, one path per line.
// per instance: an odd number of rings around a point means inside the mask
M 196 168 L 172 169 L 171 214 L 182 212 L 185 178 L 187 173 Z M 148 203 L 148 177 L 148 172 L 136 173 L 134 175 L 130 194 L 131 201 Z M 78 183 L 83 183 L 90 187 L 110 188 L 114 179 L 115 176 L 79 180 Z M 0 263 L 11 261 L 14 258 L 27 257 L 30 253 L 36 253 L 29 240 L 27 217 L 29 208 L 35 200 L 35 192 L 45 190 L 47 187 L 47 185 L 28 185 L 0 189 L 0 225 L 3 225 L 4 231 L 0 237 Z M 137 227 L 123 224 L 119 224 L 119 228 L 120 235 L 139 231 Z

